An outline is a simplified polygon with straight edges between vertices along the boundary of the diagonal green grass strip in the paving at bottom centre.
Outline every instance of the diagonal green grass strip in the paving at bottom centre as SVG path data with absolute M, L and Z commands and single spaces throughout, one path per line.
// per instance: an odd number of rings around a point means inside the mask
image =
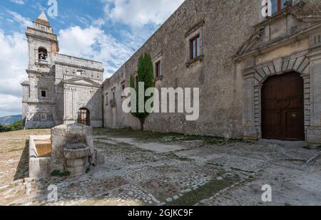
M 220 192 L 220 190 L 230 187 L 235 182 L 240 181 L 240 177 L 224 177 L 222 180 L 212 179 L 210 182 L 205 184 L 203 187 L 198 188 L 195 191 L 188 192 L 168 203 L 168 206 L 193 206 L 200 200 L 208 199 L 213 194 Z

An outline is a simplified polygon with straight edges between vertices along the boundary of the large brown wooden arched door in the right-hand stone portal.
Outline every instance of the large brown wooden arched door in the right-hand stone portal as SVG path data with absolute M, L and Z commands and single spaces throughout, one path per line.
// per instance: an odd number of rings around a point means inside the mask
M 261 90 L 263 139 L 305 140 L 303 84 L 295 72 L 265 80 Z

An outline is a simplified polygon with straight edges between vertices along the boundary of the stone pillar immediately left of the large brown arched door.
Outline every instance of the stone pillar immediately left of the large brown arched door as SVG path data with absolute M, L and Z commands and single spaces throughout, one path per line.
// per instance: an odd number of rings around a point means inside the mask
M 243 137 L 245 140 L 258 140 L 258 131 L 255 128 L 254 74 L 255 74 L 255 71 L 252 69 L 245 71 L 243 73 L 243 76 L 244 76 Z

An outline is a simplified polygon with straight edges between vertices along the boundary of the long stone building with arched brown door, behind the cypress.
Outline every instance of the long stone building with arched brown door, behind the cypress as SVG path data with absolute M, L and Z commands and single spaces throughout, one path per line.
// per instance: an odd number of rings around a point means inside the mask
M 320 0 L 270 3 L 185 0 L 103 83 L 104 127 L 140 127 L 122 90 L 150 53 L 157 88 L 200 88 L 200 117 L 153 113 L 146 130 L 321 143 Z

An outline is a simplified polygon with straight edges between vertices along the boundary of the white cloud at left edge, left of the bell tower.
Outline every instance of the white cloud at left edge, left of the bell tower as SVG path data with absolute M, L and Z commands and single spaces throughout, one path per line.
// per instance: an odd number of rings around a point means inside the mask
M 24 34 L 5 35 L 0 29 L 0 115 L 21 114 L 22 90 L 26 80 L 28 46 Z

